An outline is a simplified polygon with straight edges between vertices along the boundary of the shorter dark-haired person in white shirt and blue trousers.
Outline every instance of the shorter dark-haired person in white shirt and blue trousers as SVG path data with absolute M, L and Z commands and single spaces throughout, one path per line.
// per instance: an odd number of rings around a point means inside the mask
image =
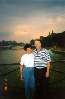
M 24 50 L 26 54 L 21 57 L 20 61 L 21 79 L 23 77 L 26 99 L 32 99 L 35 87 L 34 55 L 32 54 L 32 47 L 30 44 L 26 44 Z

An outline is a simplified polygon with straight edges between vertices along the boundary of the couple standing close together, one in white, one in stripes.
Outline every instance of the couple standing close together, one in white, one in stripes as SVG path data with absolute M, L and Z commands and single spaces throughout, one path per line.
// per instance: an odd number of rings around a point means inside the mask
M 21 57 L 19 67 L 21 79 L 24 80 L 26 99 L 33 99 L 34 93 L 38 98 L 47 97 L 51 58 L 48 50 L 42 45 L 41 40 L 36 39 L 34 50 L 31 44 L 24 46 L 26 54 Z

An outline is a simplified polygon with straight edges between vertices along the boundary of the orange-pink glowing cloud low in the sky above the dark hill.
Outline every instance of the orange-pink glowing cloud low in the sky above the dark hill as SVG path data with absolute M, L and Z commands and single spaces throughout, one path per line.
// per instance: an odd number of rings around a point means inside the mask
M 55 32 L 62 31 L 65 28 L 64 26 L 65 18 L 62 16 L 45 17 L 42 15 L 29 17 L 23 23 L 16 24 L 12 38 L 20 41 L 30 41 L 40 36 L 48 36 L 52 29 Z

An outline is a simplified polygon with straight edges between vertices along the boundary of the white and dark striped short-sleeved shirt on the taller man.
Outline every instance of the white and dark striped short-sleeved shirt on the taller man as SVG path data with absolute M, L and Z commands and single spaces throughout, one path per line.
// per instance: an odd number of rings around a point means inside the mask
M 51 62 L 51 58 L 47 49 L 41 49 L 40 51 L 35 50 L 34 54 L 34 65 L 37 68 L 47 67 L 47 64 Z

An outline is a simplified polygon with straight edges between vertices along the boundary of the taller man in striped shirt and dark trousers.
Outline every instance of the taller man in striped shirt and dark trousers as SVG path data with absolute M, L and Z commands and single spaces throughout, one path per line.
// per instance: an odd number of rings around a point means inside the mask
M 40 99 L 41 97 L 45 97 L 46 99 L 51 59 L 48 50 L 42 47 L 40 39 L 36 39 L 34 45 L 36 47 L 33 52 L 36 93 L 40 96 Z

